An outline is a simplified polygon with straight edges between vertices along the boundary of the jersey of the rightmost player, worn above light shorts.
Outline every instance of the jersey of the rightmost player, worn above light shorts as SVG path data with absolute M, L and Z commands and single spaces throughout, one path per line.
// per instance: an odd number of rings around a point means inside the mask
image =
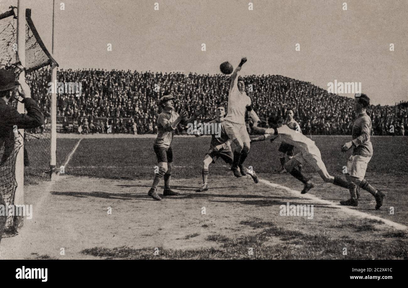
M 355 145 L 353 155 L 373 156 L 373 144 L 370 141 L 371 118 L 366 112 L 361 113 L 354 121 L 351 136 Z

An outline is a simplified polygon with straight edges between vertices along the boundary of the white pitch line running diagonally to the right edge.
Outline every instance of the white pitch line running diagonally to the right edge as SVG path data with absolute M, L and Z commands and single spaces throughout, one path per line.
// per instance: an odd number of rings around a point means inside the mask
M 350 214 L 350 215 L 353 215 L 353 216 L 359 216 L 359 217 L 363 217 L 363 218 L 367 218 L 367 219 L 382 221 L 382 222 L 386 223 L 388 226 L 391 226 L 391 227 L 399 229 L 399 230 L 408 230 L 408 227 L 406 225 L 403 225 L 403 224 L 400 224 L 400 223 L 397 223 L 397 222 L 394 222 L 394 221 L 391 221 L 391 220 L 388 220 L 388 219 L 384 219 L 384 218 L 381 218 L 381 217 L 378 217 L 378 216 L 375 216 L 375 215 L 367 214 L 367 213 L 364 213 L 364 212 L 361 212 L 361 211 L 358 211 L 358 210 L 354 210 L 354 209 L 348 208 L 346 206 L 337 205 L 337 204 L 335 204 L 335 203 L 333 203 L 331 201 L 320 199 L 320 198 L 318 198 L 318 197 L 316 197 L 316 196 L 314 196 L 312 194 L 300 194 L 300 191 L 292 190 L 292 189 L 290 189 L 288 187 L 285 187 L 285 186 L 282 186 L 282 185 L 279 185 L 279 184 L 276 184 L 276 183 L 272 183 L 272 182 L 264 180 L 264 179 L 259 179 L 259 182 L 262 182 L 262 183 L 264 183 L 264 184 L 266 184 L 268 186 L 271 186 L 273 188 L 286 190 L 286 191 L 288 191 L 288 192 L 290 192 L 292 194 L 295 194 L 296 196 L 300 196 L 300 197 L 305 198 L 305 199 L 316 201 L 319 204 L 326 204 L 326 205 L 329 205 L 330 207 L 338 208 L 341 211 L 345 212 L 346 214 Z

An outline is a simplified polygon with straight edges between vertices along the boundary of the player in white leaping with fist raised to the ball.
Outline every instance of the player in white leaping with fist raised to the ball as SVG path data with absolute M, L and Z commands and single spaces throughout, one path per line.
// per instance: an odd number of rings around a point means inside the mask
M 231 141 L 235 143 L 234 159 L 231 165 L 231 170 L 235 177 L 246 175 L 246 169 L 244 169 L 243 164 L 251 147 L 251 139 L 245 124 L 245 112 L 252 109 L 251 98 L 245 93 L 244 81 L 238 81 L 238 72 L 241 71 L 241 67 L 245 62 L 246 58 L 244 57 L 231 75 L 228 109 L 227 115 L 224 118 L 225 132 Z

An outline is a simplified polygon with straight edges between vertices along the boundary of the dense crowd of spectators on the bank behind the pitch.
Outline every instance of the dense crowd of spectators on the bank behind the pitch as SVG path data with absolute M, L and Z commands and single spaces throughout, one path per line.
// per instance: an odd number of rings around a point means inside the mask
M 45 116 L 49 116 L 51 95 L 44 87 L 49 85 L 50 73 L 49 69 L 41 69 L 27 76 Z M 355 118 L 352 98 L 279 75 L 242 79 L 261 119 L 276 112 L 284 115 L 292 109 L 304 134 L 350 134 Z M 229 77 L 221 74 L 104 69 L 60 69 L 58 82 L 81 83 L 78 94 L 58 94 L 58 123 L 66 133 L 157 133 L 157 100 L 167 90 L 177 98 L 176 111 L 185 109 L 191 115 L 197 107 L 205 107 L 206 114 L 200 120 L 206 121 L 213 118 L 217 105 L 226 107 L 229 87 Z M 368 114 L 373 134 L 404 135 L 408 128 L 406 104 L 371 105 Z M 180 129 L 176 132 L 182 133 Z

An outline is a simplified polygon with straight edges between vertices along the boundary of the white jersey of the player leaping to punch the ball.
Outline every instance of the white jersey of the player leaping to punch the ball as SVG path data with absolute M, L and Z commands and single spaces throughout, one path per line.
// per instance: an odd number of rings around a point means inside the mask
M 228 94 L 227 115 L 224 120 L 245 124 L 246 106 L 249 105 L 251 105 L 251 98 L 245 92 L 239 92 L 236 81 Z

